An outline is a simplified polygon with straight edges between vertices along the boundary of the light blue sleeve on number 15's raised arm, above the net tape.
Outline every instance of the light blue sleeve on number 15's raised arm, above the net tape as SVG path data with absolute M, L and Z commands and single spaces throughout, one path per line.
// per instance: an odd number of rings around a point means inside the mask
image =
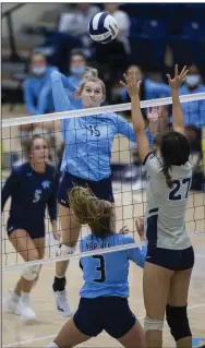
M 51 73 L 51 86 L 52 86 L 52 97 L 53 97 L 56 111 L 61 112 L 61 111 L 73 110 L 73 107 L 63 87 L 61 73 L 59 73 L 58 71 L 53 71 Z

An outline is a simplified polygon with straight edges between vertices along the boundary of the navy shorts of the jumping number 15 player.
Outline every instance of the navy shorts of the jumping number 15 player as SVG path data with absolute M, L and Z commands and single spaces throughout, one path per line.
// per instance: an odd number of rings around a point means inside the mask
M 99 181 L 92 181 L 75 177 L 68 171 L 63 172 L 58 190 L 58 202 L 61 205 L 69 207 L 68 195 L 74 185 L 88 187 L 98 199 L 113 203 L 111 176 Z

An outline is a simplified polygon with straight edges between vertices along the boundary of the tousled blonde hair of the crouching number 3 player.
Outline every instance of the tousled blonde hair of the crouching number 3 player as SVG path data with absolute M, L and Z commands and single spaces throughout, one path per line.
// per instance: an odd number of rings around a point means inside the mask
M 74 187 L 69 193 L 70 206 L 81 225 L 89 225 L 95 236 L 110 233 L 111 203 L 97 199 L 89 188 Z

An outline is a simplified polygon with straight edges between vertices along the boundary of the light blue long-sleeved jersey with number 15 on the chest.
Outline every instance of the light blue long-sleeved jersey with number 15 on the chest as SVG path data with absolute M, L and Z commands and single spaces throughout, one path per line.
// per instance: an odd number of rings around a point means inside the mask
M 74 110 L 62 82 L 62 74 L 51 74 L 57 112 Z M 104 113 L 62 121 L 64 153 L 61 171 L 85 180 L 99 181 L 111 175 L 111 147 L 116 134 L 135 142 L 133 127 L 117 113 Z

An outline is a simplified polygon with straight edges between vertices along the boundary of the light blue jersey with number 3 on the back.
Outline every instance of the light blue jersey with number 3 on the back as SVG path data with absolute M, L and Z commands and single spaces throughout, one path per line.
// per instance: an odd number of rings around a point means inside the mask
M 80 295 L 84 298 L 105 296 L 129 297 L 129 262 L 144 267 L 147 248 L 134 248 L 100 254 L 100 249 L 134 243 L 128 235 L 111 235 L 105 239 L 88 236 L 81 241 L 82 252 L 99 249 L 99 254 L 81 257 L 85 280 Z

